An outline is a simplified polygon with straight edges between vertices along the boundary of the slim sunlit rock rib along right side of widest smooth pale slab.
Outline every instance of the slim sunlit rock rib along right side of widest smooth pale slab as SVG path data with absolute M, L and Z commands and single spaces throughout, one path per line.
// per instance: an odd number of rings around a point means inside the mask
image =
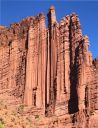
M 42 40 L 41 40 L 41 33 L 40 33 L 40 25 L 41 25 L 41 19 L 38 16 L 38 30 L 36 31 L 35 36 L 35 46 L 37 45 L 37 58 L 35 59 L 35 65 L 37 65 L 37 90 L 36 90 L 36 106 L 42 107 Z M 38 35 L 37 35 L 38 34 Z M 38 38 L 38 39 L 37 39 Z M 36 50 L 35 50 L 36 52 Z M 36 70 L 36 69 L 35 69 Z

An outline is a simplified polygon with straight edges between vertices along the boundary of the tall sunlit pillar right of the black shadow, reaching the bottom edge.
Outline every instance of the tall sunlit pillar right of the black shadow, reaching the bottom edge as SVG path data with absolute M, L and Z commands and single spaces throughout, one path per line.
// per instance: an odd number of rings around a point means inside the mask
M 78 83 L 77 83 L 77 94 L 78 94 L 78 109 L 79 115 L 77 116 L 80 126 L 89 127 L 89 96 L 90 96 L 90 83 L 88 82 L 91 75 L 91 62 L 89 58 L 89 40 L 87 36 L 82 37 L 79 45 L 79 57 L 78 57 Z M 90 80 L 91 81 L 91 80 Z M 84 113 L 84 110 L 86 113 Z M 81 116 L 80 116 L 81 115 Z M 82 122 L 79 120 L 81 117 Z M 86 118 L 87 117 L 87 118 Z

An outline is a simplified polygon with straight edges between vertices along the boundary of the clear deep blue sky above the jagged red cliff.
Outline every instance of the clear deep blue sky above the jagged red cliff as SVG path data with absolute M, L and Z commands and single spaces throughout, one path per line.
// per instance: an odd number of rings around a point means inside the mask
M 98 1 L 94 0 L 0 0 L 0 25 L 9 26 L 27 16 L 44 12 L 51 5 L 56 8 L 57 20 L 75 12 L 81 23 L 83 35 L 88 35 L 93 58 L 98 57 Z

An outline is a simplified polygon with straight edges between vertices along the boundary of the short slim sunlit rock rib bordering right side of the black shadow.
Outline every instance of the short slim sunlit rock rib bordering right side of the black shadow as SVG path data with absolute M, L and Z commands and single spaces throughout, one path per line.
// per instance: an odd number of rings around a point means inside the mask
M 80 48 L 81 49 L 81 48 Z M 78 67 L 78 108 L 85 109 L 85 62 L 82 49 L 79 51 L 79 67 Z

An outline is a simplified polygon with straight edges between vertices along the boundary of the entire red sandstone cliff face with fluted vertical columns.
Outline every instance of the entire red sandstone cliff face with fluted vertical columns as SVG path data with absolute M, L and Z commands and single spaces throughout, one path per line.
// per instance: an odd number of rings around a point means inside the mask
M 46 116 L 68 115 L 69 127 L 97 128 L 90 117 L 98 110 L 98 59 L 88 48 L 78 16 L 58 24 L 53 6 L 48 28 L 42 13 L 0 26 L 0 100 L 40 108 Z

